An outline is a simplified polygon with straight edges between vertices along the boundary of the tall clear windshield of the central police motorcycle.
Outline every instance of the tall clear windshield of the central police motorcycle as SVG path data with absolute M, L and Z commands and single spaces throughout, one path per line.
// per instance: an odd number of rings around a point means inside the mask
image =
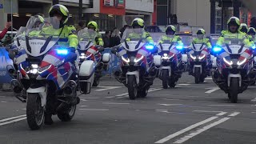
M 121 44 L 127 51 L 137 51 L 146 43 L 146 31 L 142 28 L 126 28 L 122 35 Z

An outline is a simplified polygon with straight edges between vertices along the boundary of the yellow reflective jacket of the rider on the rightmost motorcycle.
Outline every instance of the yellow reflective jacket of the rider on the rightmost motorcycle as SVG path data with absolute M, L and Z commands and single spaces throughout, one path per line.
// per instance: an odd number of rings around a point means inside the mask
M 244 44 L 246 46 L 253 46 L 250 42 L 249 38 L 246 37 L 246 33 L 242 33 L 241 31 L 238 31 L 238 33 L 230 33 L 229 30 L 223 30 L 222 35 L 218 38 L 218 41 L 216 42 L 217 46 L 222 46 L 224 43 L 228 43 L 225 41 L 225 38 L 234 38 L 234 39 L 244 39 Z

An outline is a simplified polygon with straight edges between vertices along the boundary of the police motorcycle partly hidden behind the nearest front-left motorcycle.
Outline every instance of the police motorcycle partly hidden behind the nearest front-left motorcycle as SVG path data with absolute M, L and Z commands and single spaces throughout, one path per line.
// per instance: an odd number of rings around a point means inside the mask
M 78 34 L 79 63 L 81 65 L 82 62 L 85 62 L 87 63 L 85 67 L 90 67 L 90 70 L 95 69 L 94 78 L 88 81 L 92 83 L 92 86 L 98 86 L 100 78 L 102 77 L 102 71 L 108 70 L 110 62 L 110 54 L 105 53 L 102 55 L 101 52 L 104 51 L 104 48 L 95 45 L 97 35 L 97 32 L 87 28 L 80 30 Z

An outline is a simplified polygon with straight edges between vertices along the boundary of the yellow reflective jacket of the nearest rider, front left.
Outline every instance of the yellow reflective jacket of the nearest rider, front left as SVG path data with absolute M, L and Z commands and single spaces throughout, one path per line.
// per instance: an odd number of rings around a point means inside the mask
M 59 36 L 58 45 L 77 48 L 78 36 L 74 26 L 64 26 L 58 30 L 54 29 L 53 26 L 48 26 L 42 29 L 42 36 Z

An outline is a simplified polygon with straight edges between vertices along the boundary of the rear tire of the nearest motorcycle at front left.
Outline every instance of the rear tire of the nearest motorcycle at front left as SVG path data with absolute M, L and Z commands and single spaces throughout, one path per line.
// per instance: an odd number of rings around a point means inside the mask
M 64 112 L 59 112 L 58 113 L 58 118 L 62 121 L 62 122 L 70 122 L 72 120 L 72 118 L 74 117 L 75 111 L 76 111 L 77 106 L 70 106 L 69 110 L 66 110 Z

